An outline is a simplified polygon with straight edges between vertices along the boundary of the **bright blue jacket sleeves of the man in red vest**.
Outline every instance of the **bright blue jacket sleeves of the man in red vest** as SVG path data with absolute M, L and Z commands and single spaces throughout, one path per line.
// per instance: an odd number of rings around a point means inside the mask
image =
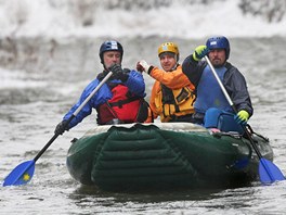
M 112 79 L 112 78 L 109 78 Z M 122 83 L 119 79 L 112 79 L 112 83 Z M 73 113 L 80 106 L 80 104 L 89 97 L 89 94 L 96 88 L 100 84 L 100 80 L 95 78 L 92 80 L 81 93 L 78 102 L 69 110 L 69 112 L 64 116 L 64 121 L 67 121 Z M 131 92 L 140 98 L 144 98 L 145 93 L 145 83 L 143 75 L 136 71 L 130 71 L 129 77 L 127 81 L 122 83 L 125 86 L 129 88 Z M 109 99 L 112 99 L 113 94 L 105 83 L 99 91 L 89 100 L 89 102 L 81 109 L 81 111 L 74 117 L 74 119 L 69 123 L 69 128 L 75 127 L 78 123 L 80 123 L 86 116 L 90 115 L 92 112 L 92 108 L 96 109 L 100 104 L 105 103 Z

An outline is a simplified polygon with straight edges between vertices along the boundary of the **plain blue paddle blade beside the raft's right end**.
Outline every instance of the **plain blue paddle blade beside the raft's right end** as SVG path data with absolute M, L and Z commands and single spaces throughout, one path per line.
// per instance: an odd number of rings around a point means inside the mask
M 259 163 L 259 177 L 263 184 L 272 184 L 276 180 L 285 180 L 280 168 L 266 159 L 261 159 Z

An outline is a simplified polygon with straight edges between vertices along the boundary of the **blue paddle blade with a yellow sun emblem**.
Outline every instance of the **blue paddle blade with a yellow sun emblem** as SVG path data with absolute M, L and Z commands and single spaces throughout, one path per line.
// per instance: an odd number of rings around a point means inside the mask
M 4 179 L 5 186 L 20 186 L 30 181 L 35 170 L 35 161 L 23 162 L 17 165 Z

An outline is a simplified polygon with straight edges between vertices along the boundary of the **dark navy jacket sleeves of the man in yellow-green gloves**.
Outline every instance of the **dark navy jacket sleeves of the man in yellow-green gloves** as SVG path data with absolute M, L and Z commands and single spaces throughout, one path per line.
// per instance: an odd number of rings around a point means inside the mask
M 195 61 L 193 54 L 188 55 L 183 64 L 183 73 L 194 84 L 195 88 L 199 85 L 202 74 L 207 66 L 205 61 Z M 247 90 L 247 85 L 242 73 L 231 63 L 225 63 L 225 73 L 222 78 L 222 84 L 225 87 L 230 98 L 232 99 L 237 111 L 245 110 L 249 113 L 249 117 L 253 114 L 250 96 Z

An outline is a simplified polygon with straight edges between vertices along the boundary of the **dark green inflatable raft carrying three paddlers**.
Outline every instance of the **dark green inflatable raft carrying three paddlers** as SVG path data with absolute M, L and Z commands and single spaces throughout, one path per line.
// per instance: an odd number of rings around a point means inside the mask
M 252 139 L 273 161 L 269 140 Z M 191 123 L 99 126 L 67 154 L 70 175 L 102 190 L 239 187 L 258 179 L 258 165 L 246 138 Z

